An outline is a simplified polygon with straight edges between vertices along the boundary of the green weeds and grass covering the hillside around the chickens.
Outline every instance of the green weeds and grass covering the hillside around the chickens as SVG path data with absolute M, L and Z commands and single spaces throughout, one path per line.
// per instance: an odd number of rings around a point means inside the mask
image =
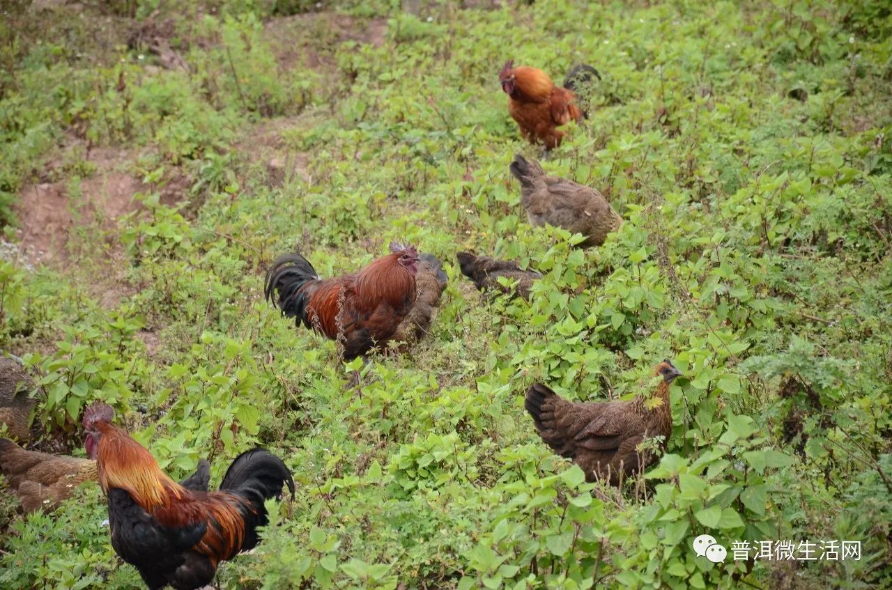
M 221 587 L 892 584 L 888 8 L 377 2 L 287 16 L 305 4 L 32 7 L 0 30 L 6 234 L 50 162 L 68 185 L 103 173 L 89 149 L 117 150 L 145 181 L 117 226 L 78 217 L 62 262 L 0 262 L 0 348 L 43 376 L 47 438 L 77 449 L 80 409 L 104 399 L 174 477 L 211 456 L 219 481 L 256 444 L 282 456 L 297 500 L 270 507 L 264 542 Z M 185 67 L 153 52 L 156 8 Z M 152 34 L 128 47 L 140 27 Z M 526 224 L 508 163 L 539 151 L 497 84 L 509 58 L 555 79 L 578 61 L 601 73 L 590 119 L 543 162 L 626 220 L 599 249 Z M 273 158 L 306 166 L 280 183 Z M 340 275 L 392 239 L 450 275 L 409 354 L 343 365 L 262 300 L 280 253 Z M 529 303 L 485 302 L 455 264 L 468 249 L 545 277 Z M 688 376 L 667 454 L 621 492 L 592 491 L 541 443 L 524 390 L 632 396 L 666 356 Z M 98 526 L 96 487 L 48 516 L 9 504 L 0 585 L 138 581 Z M 690 549 L 702 533 L 729 547 L 856 540 L 862 559 L 715 566 Z

